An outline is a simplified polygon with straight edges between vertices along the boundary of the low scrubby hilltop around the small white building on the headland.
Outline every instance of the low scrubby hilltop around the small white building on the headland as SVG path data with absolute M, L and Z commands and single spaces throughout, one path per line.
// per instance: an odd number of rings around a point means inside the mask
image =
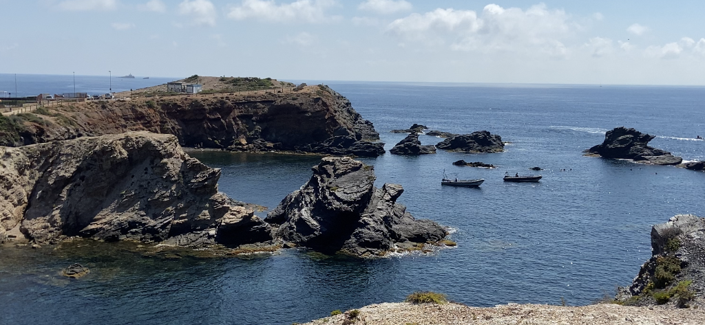
M 295 84 L 291 82 L 282 82 L 271 78 L 258 77 L 203 77 L 200 75 L 192 75 L 191 77 L 175 80 L 174 82 L 186 82 L 190 84 L 201 84 L 201 94 L 216 94 L 224 92 L 238 91 L 257 91 L 264 89 L 282 89 L 293 88 Z M 131 93 L 131 94 L 130 94 Z M 133 91 L 122 91 L 116 93 L 117 98 L 125 98 L 130 96 L 155 96 L 168 94 L 166 84 L 135 89 Z

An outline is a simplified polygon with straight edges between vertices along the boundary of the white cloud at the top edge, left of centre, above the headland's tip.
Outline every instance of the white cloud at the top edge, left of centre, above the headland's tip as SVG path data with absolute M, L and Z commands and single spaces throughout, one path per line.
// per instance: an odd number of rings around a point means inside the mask
M 243 0 L 240 6 L 230 8 L 228 18 L 245 20 L 256 18 L 274 22 L 304 21 L 321 23 L 338 17 L 328 17 L 326 9 L 335 6 L 333 0 L 298 0 L 290 4 L 276 4 L 274 0 Z

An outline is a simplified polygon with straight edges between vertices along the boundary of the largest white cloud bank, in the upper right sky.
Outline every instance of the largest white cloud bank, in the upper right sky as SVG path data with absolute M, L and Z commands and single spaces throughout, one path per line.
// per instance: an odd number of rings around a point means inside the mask
M 563 41 L 573 34 L 575 27 L 564 11 L 550 11 L 544 4 L 526 11 L 489 4 L 481 15 L 441 8 L 423 15 L 412 13 L 394 20 L 388 25 L 388 32 L 428 44 L 448 41 L 450 49 L 459 51 L 543 53 L 561 57 L 568 53 Z

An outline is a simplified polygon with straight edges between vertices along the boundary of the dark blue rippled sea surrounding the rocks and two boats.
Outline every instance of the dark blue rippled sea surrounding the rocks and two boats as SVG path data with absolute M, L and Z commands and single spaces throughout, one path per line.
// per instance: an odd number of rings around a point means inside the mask
M 406 136 L 390 131 L 414 123 L 487 130 L 508 142 L 503 153 L 361 158 L 374 165 L 376 186 L 402 184 L 398 201 L 414 217 L 449 227 L 457 247 L 370 260 L 302 249 L 199 258 L 144 256 L 119 243 L 4 247 L 0 324 L 293 324 L 400 302 L 414 291 L 478 307 L 588 305 L 631 283 L 651 255 L 653 224 L 681 213 L 705 216 L 704 172 L 583 156 L 606 131 L 625 126 L 656 136 L 651 146 L 705 160 L 705 141 L 697 139 L 705 136 L 704 87 L 325 84 L 374 123 L 387 150 Z M 320 160 L 189 153 L 221 168 L 219 189 L 228 196 L 269 208 L 305 184 Z M 458 167 L 456 160 L 497 168 Z M 505 172 L 543 179 L 505 183 Z M 443 174 L 485 181 L 478 189 L 441 187 Z M 59 271 L 74 262 L 90 274 L 62 278 Z

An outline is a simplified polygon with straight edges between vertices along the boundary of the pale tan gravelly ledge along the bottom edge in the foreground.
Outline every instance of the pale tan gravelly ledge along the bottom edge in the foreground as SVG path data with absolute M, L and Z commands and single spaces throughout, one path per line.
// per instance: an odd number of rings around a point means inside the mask
M 552 305 L 499 305 L 468 307 L 454 303 L 413 305 L 408 302 L 381 303 L 359 309 L 355 324 L 702 324 L 705 310 L 662 310 L 614 304 L 584 307 Z M 346 314 L 317 319 L 305 325 L 351 324 Z

